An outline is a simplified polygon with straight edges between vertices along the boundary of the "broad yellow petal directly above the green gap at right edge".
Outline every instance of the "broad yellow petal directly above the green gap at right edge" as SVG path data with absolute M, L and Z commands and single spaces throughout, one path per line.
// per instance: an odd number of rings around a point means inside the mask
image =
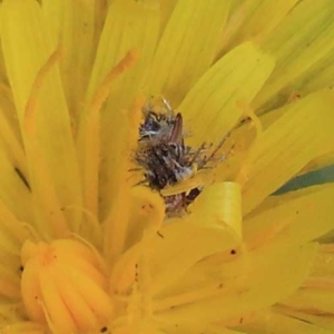
M 288 112 L 258 137 L 250 155 L 252 163 L 245 166 L 244 214 L 312 159 L 333 149 L 333 106 L 332 91 L 311 95 L 284 107 Z

